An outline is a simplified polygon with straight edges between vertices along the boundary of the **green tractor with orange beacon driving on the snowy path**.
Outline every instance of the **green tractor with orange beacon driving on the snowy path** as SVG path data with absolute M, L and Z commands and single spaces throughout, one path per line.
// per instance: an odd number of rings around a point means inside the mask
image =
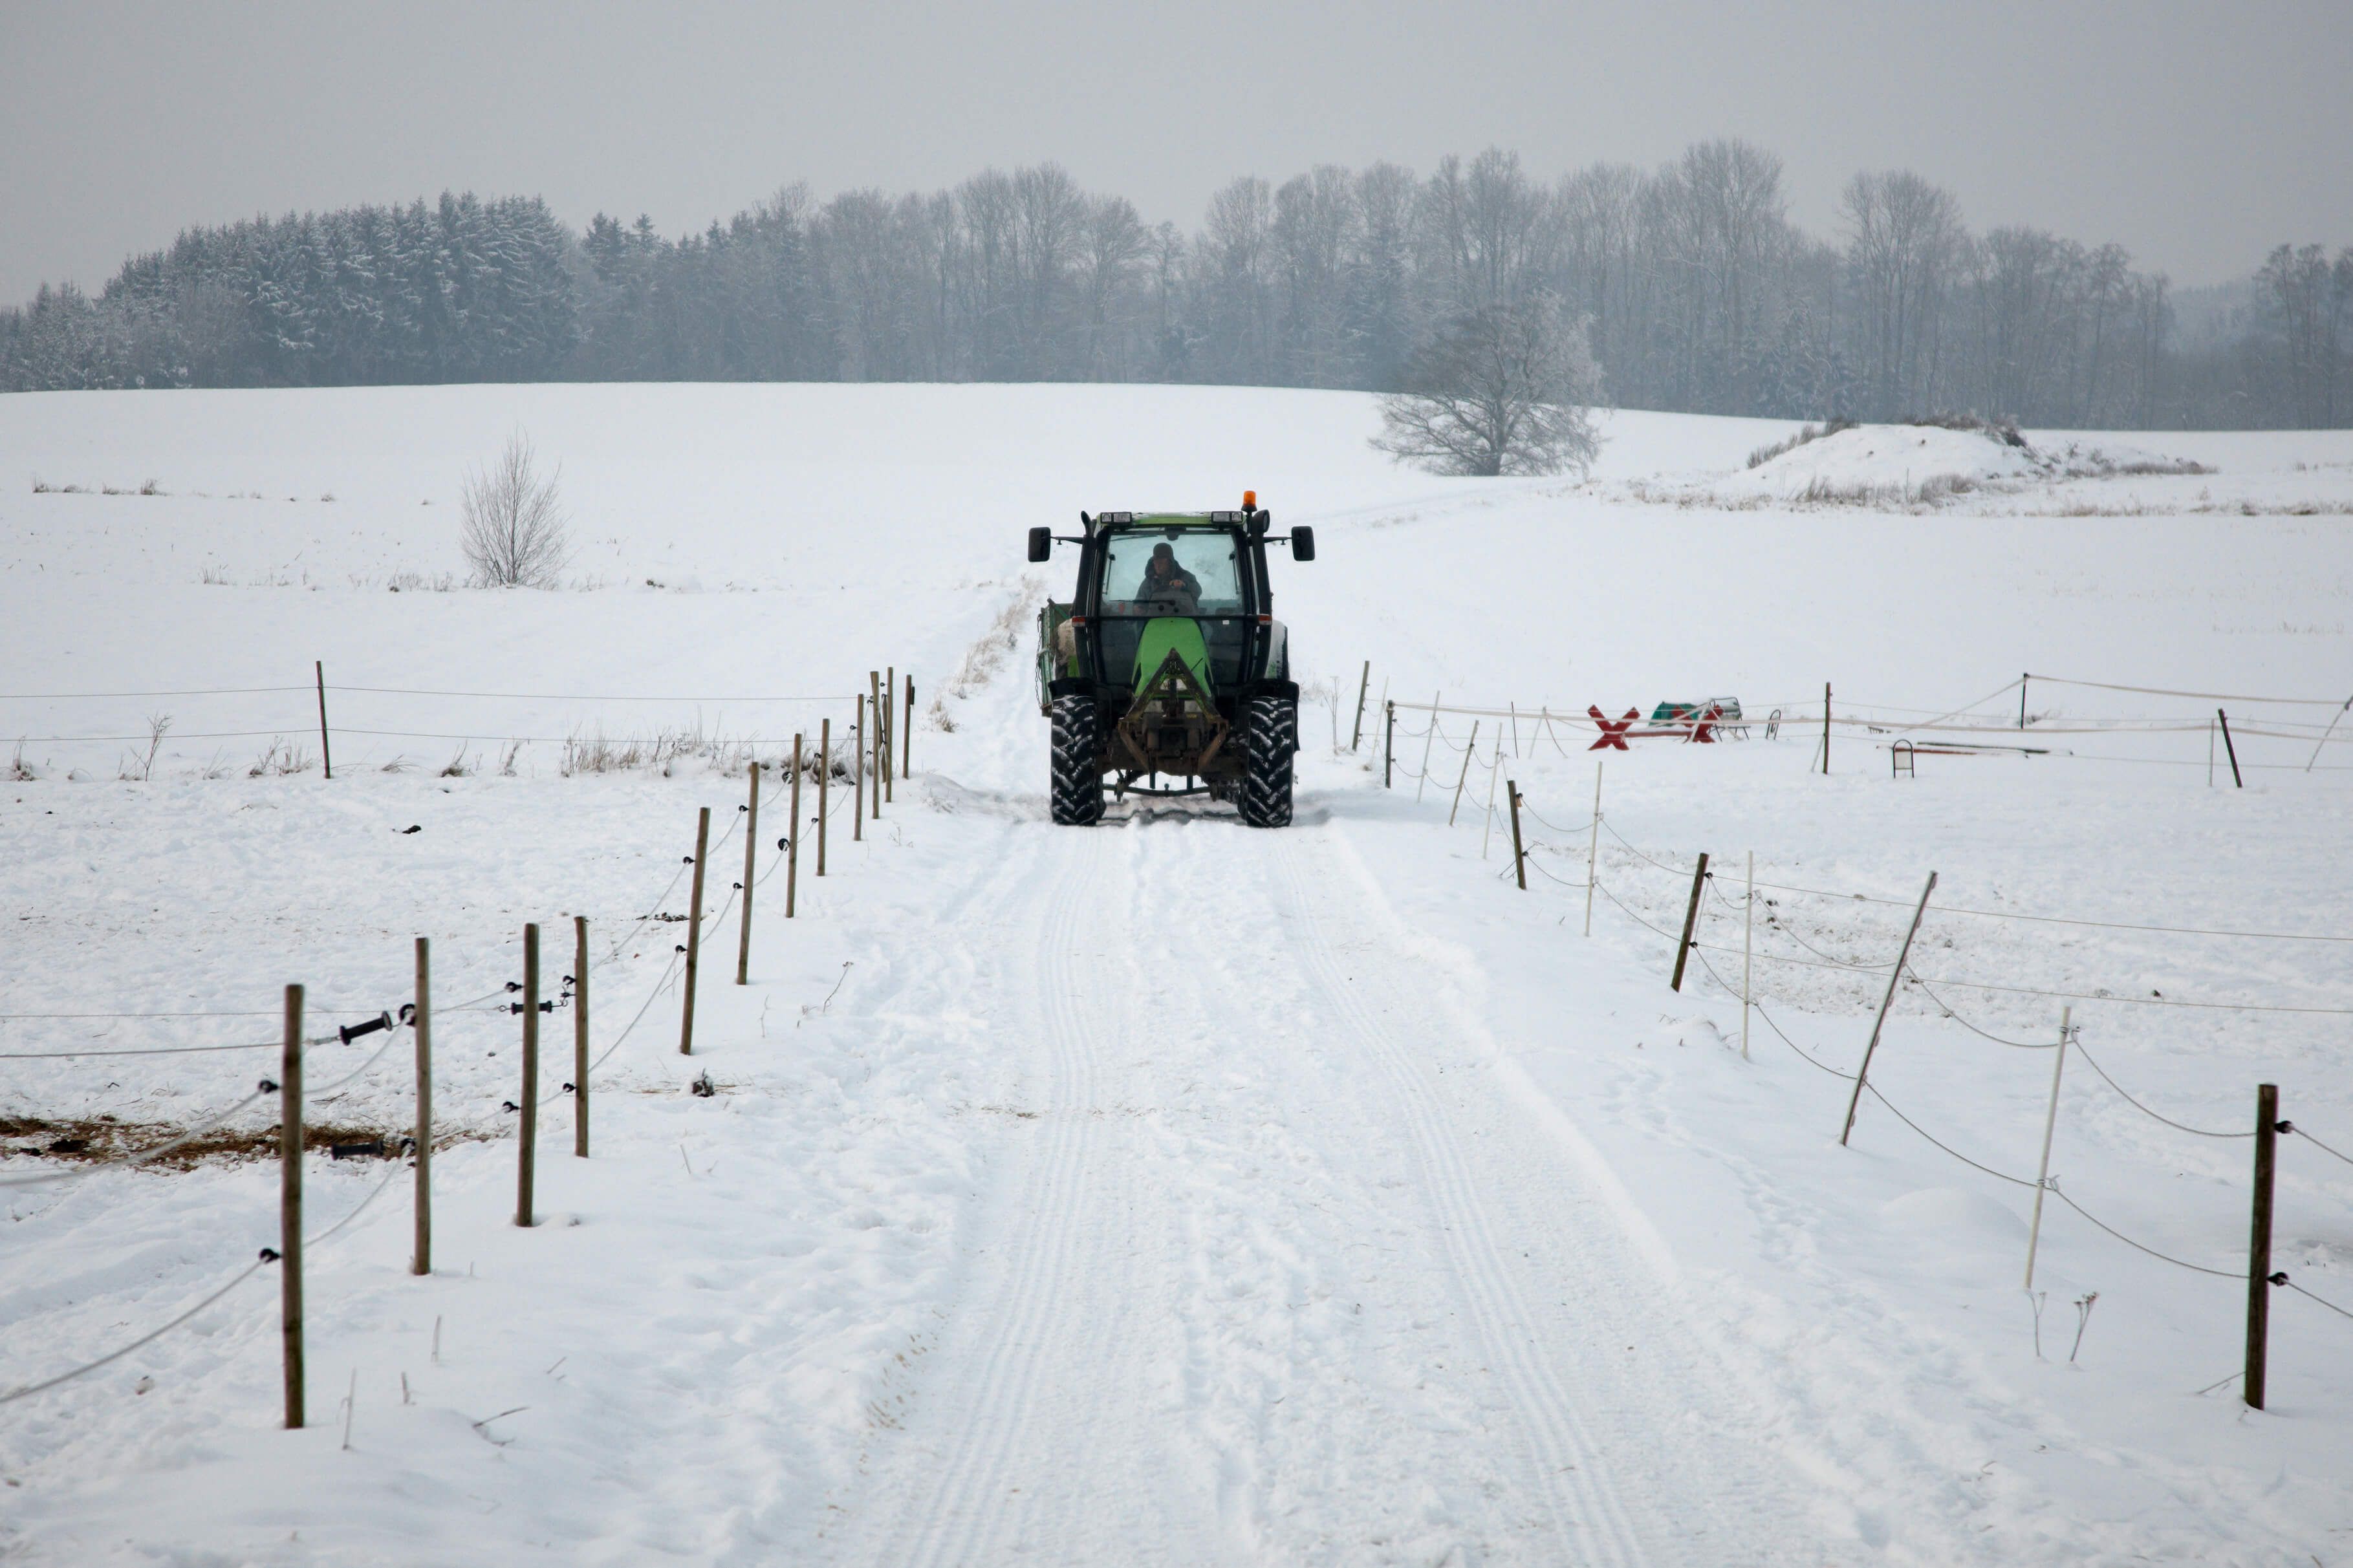
M 1078 545 L 1078 590 L 1038 611 L 1038 710 L 1054 722 L 1054 820 L 1118 797 L 1231 799 L 1252 827 L 1292 820 L 1299 684 L 1266 583 L 1266 545 L 1315 559 L 1315 531 L 1238 512 L 1087 512 L 1031 529 L 1031 559 Z M 1162 785 L 1181 778 L 1184 785 Z M 1148 783 L 1146 783 L 1148 780 Z

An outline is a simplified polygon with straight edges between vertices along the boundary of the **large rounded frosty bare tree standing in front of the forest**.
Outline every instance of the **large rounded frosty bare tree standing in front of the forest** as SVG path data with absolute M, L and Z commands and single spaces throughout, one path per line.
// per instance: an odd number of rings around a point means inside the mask
M 1372 444 L 1431 473 L 1584 473 L 1598 395 L 1584 322 L 1537 294 L 1449 320 L 1405 364 L 1405 390 L 1381 397 Z

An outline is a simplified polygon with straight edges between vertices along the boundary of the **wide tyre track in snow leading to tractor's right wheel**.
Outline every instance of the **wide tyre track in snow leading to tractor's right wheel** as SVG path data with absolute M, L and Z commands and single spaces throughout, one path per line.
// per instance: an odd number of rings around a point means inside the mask
M 1562 1143 L 1577 1133 L 1558 1107 L 1520 1103 L 1534 1091 L 1504 1081 L 1494 1041 L 1459 1011 L 1442 973 L 1440 985 L 1409 990 L 1414 971 L 1431 978 L 1433 966 L 1412 961 L 1346 835 L 1332 827 L 1287 844 L 1285 870 L 1306 966 L 1362 1030 L 1417 1143 L 1435 1154 L 1433 1199 L 1447 1211 L 1466 1293 L 1480 1298 L 1494 1363 L 1529 1401 L 1539 1441 L 1579 1455 L 1577 1469 L 1555 1462 L 1546 1476 L 1555 1507 L 1586 1509 L 1569 1544 L 1621 1563 L 1852 1559 L 1852 1502 L 1840 1507 L 1835 1486 L 1781 1458 L 1786 1425 L 1704 1347 L 1628 1229 L 1640 1218 L 1591 1164 L 1598 1154 Z M 1355 933 L 1369 959 L 1353 983 L 1334 933 Z M 1384 1018 L 1428 1018 L 1421 1037 L 1468 1048 L 1412 1048 Z

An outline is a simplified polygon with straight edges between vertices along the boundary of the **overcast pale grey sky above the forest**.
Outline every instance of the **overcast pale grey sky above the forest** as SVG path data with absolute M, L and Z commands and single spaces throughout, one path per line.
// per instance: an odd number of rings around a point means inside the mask
M 1064 162 L 1191 230 L 1235 174 L 1518 148 L 1861 167 L 2181 284 L 2353 242 L 2353 0 L 2195 5 L 191 5 L 0 0 L 0 301 L 186 223 L 539 193 L 699 228 L 805 179 Z

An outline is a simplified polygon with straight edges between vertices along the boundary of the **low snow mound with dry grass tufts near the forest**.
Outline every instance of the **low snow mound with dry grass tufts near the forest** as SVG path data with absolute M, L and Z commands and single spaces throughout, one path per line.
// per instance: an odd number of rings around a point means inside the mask
M 2014 430 L 1986 425 L 1847 425 L 1795 442 L 1720 482 L 1715 494 L 1828 505 L 1934 503 L 1977 489 L 2155 473 L 2205 470 L 2118 444 L 2033 447 Z

